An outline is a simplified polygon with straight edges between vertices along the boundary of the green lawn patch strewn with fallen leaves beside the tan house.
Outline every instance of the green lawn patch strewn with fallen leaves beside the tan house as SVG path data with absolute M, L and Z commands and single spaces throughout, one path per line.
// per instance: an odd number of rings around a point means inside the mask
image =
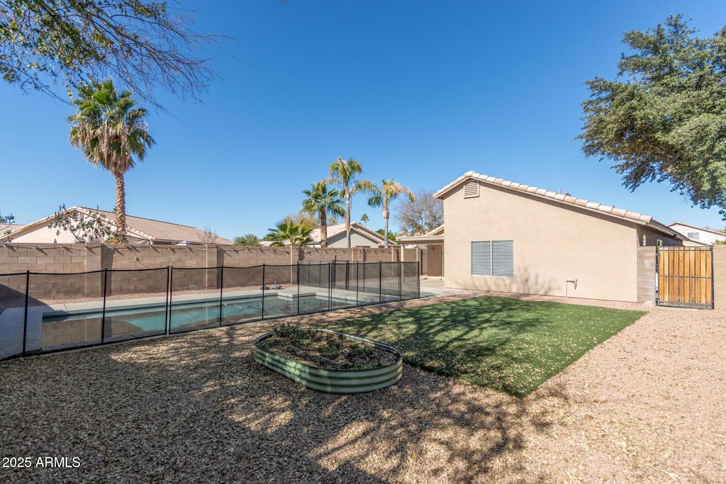
M 522 397 L 643 314 L 483 296 L 325 327 L 396 346 L 421 369 Z

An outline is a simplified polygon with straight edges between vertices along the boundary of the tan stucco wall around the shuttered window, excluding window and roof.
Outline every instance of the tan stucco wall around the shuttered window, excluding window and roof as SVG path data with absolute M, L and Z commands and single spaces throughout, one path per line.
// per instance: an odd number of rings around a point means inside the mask
M 485 184 L 479 197 L 465 199 L 462 186 L 449 192 L 444 213 L 452 288 L 635 302 L 642 234 L 656 243 L 634 222 Z M 513 240 L 515 276 L 472 276 L 474 240 Z M 567 282 L 574 279 L 576 289 Z

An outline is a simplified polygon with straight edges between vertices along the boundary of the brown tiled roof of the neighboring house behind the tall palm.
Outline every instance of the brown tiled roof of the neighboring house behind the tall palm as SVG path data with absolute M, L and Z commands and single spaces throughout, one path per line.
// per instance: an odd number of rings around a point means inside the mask
M 112 231 L 115 231 L 115 213 L 105 210 L 95 210 L 86 207 L 71 207 L 67 212 L 80 212 L 86 216 L 100 217 L 107 222 Z M 55 214 L 41 220 L 29 223 L 21 229 L 12 231 L 9 235 L 0 237 L 3 239 L 12 239 L 21 234 L 28 234 L 31 231 L 47 227 L 54 219 Z M 155 244 L 177 244 L 180 242 L 189 242 L 191 244 L 220 244 L 232 245 L 231 240 L 222 237 L 216 237 L 208 234 L 208 232 L 196 229 L 195 227 L 179 225 L 178 223 L 163 222 L 152 220 L 150 218 L 134 217 L 126 215 L 126 234 L 129 238 L 134 239 L 135 243 L 150 242 Z M 213 239 L 213 240 L 212 240 Z

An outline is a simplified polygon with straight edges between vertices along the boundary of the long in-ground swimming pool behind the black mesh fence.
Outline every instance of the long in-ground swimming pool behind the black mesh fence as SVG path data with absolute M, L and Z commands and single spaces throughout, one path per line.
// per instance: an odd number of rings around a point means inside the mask
M 355 305 L 355 301 L 346 298 L 332 298 L 327 295 L 261 295 L 238 298 L 195 299 L 172 301 L 168 308 L 165 303 L 147 304 L 143 306 L 121 306 L 85 311 L 51 311 L 43 315 L 44 335 L 52 335 L 52 343 L 43 346 L 57 346 L 70 343 L 81 343 L 77 339 L 62 335 L 83 335 L 83 341 L 133 335 L 163 335 L 168 327 L 169 332 L 181 332 L 200 327 L 212 327 L 219 324 L 234 324 L 245 321 L 289 316 L 294 314 L 318 313 Z M 105 316 L 105 318 L 104 318 Z M 103 328 L 103 329 L 102 329 Z M 90 335 L 90 336 L 89 336 Z M 96 337 L 94 337 L 94 335 Z M 44 340 L 49 338 L 44 337 Z M 66 341 L 68 340 L 68 341 Z

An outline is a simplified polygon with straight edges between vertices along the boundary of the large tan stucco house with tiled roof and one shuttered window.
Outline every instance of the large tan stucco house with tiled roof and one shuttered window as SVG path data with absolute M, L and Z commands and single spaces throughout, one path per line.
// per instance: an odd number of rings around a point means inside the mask
M 451 288 L 637 302 L 639 247 L 686 239 L 642 213 L 474 171 L 434 197 Z

